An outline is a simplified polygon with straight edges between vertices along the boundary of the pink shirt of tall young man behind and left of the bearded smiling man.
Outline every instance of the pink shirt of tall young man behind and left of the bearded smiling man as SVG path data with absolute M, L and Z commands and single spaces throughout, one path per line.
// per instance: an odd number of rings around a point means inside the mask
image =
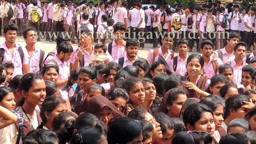
M 108 43 L 106 44 L 106 47 L 108 49 Z M 113 58 L 113 60 L 117 60 L 125 55 L 126 55 L 125 46 L 122 46 L 122 45 L 117 46 L 115 40 L 113 40 L 112 52 L 111 52 L 111 57 Z

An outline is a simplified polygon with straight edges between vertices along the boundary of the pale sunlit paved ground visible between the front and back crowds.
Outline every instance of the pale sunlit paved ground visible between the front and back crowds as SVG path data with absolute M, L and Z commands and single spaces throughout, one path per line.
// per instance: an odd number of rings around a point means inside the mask
M 3 36 L 0 37 L 0 44 L 2 44 L 5 41 L 5 38 Z M 17 37 L 16 42 L 20 43 L 21 46 L 26 46 L 26 42 L 23 39 L 23 37 Z M 96 43 L 95 43 L 96 44 Z M 56 42 L 53 41 L 50 43 L 49 41 L 45 41 L 44 39 L 41 39 L 41 42 L 37 42 L 36 46 L 38 46 L 40 49 L 44 50 L 46 53 L 52 52 L 56 47 Z M 72 44 L 73 49 L 77 48 L 77 44 Z M 160 44 L 158 45 L 160 46 Z M 147 58 L 148 51 L 153 48 L 153 44 L 145 44 L 145 50 L 139 50 L 138 55 L 141 58 Z M 197 53 L 195 50 L 194 52 L 190 53 Z M 177 55 L 177 52 L 175 52 L 175 55 Z

